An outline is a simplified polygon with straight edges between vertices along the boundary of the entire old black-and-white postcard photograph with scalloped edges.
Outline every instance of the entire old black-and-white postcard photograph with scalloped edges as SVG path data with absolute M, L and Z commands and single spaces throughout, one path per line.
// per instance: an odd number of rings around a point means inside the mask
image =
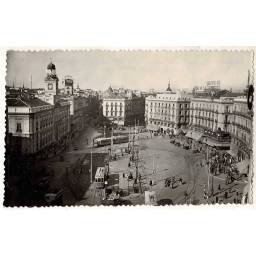
M 254 55 L 9 50 L 4 206 L 252 204 Z

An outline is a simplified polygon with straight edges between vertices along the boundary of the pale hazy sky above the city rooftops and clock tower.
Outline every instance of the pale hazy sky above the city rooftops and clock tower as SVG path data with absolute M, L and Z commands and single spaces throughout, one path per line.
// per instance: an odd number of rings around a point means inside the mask
M 251 70 L 249 51 L 48 51 L 15 52 L 7 55 L 7 84 L 44 87 L 46 67 L 56 65 L 60 81 L 71 75 L 80 88 L 105 90 L 192 88 L 220 80 L 222 88 L 243 89 Z

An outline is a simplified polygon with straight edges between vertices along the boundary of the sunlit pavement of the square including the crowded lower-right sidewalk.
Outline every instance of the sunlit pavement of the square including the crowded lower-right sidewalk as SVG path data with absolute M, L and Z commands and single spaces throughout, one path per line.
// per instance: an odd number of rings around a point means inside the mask
M 137 142 L 138 143 L 138 142 Z M 209 176 L 210 188 L 213 187 L 214 193 L 210 198 L 204 197 L 204 192 L 208 185 L 208 169 L 205 160 L 205 154 L 193 154 L 191 150 L 185 150 L 169 143 L 169 139 L 161 136 L 155 136 L 139 141 L 139 173 L 142 178 L 142 193 L 146 190 L 155 191 L 157 200 L 170 199 L 174 204 L 199 204 L 215 203 L 216 196 L 221 202 L 233 202 L 237 193 L 241 193 L 245 182 L 235 182 L 229 185 L 225 184 L 224 175 Z M 110 163 L 111 173 L 120 173 L 120 177 L 125 173 L 132 173 L 135 177 L 135 168 L 131 164 L 128 167 L 129 156 Z M 153 168 L 154 167 L 154 168 Z M 153 170 L 154 169 L 154 170 Z M 176 184 L 173 188 L 165 187 L 165 179 L 170 177 L 182 178 L 182 184 Z M 213 180 L 212 180 L 213 177 Z M 122 180 L 122 179 L 120 179 Z M 153 185 L 150 186 L 150 181 Z M 120 186 L 125 189 L 128 182 L 122 181 Z M 220 186 L 220 190 L 219 190 Z M 132 181 L 130 181 L 132 187 Z M 225 198 L 225 192 L 229 195 Z M 130 200 L 133 200 L 133 194 Z M 138 197 L 137 197 L 138 199 Z M 137 203 L 143 203 L 141 197 Z

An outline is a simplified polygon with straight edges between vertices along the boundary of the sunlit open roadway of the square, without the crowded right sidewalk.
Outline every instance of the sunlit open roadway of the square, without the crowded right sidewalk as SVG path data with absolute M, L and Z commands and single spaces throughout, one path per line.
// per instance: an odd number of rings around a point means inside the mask
M 139 142 L 139 173 L 142 178 L 143 192 L 155 191 L 157 200 L 171 199 L 175 204 L 185 203 L 185 192 L 189 199 L 196 202 L 202 200 L 203 187 L 207 184 L 207 170 L 203 154 L 193 154 L 191 151 L 170 144 L 167 137 L 153 136 L 141 139 Z M 129 157 L 111 162 L 110 172 L 132 172 L 128 168 Z M 203 163 L 204 167 L 201 167 Z M 182 178 L 182 184 L 173 188 L 165 187 L 165 179 Z M 150 185 L 152 181 L 152 185 Z M 143 197 L 142 197 L 143 198 Z M 144 199 L 143 199 L 144 200 Z M 141 201 L 141 204 L 144 203 Z

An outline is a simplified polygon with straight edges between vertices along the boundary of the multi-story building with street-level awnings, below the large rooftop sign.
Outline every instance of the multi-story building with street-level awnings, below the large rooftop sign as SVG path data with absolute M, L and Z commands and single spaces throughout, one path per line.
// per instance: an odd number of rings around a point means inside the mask
M 223 92 L 213 96 L 193 97 L 190 103 L 190 132 L 188 137 L 220 149 L 230 149 L 233 122 L 233 105 L 243 93 Z

